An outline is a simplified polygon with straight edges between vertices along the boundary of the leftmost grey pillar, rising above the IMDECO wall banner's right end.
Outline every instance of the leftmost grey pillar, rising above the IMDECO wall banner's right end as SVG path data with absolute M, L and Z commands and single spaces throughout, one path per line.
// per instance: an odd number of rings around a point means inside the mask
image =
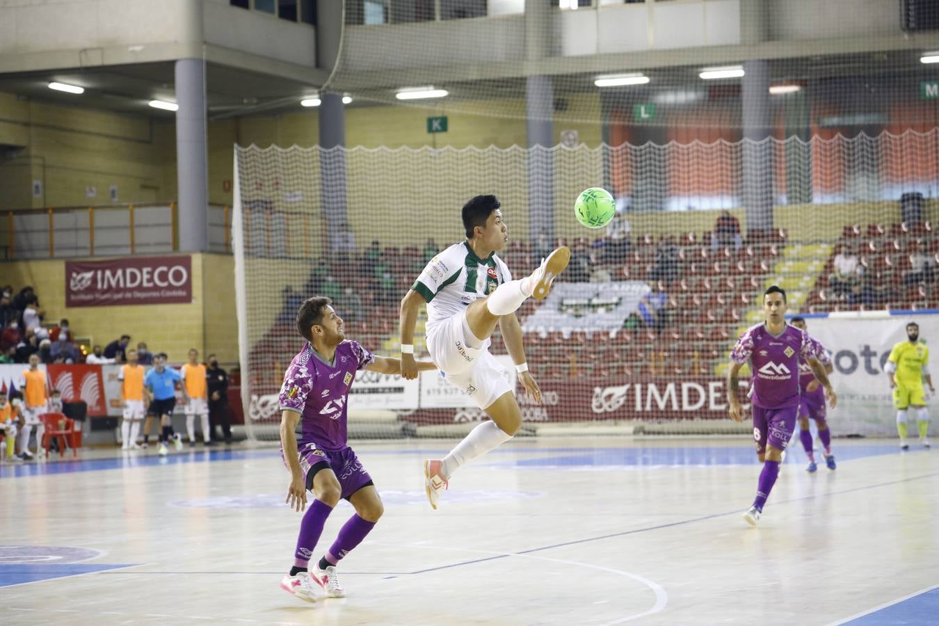
M 208 250 L 206 68 L 201 58 L 176 62 L 179 250 Z

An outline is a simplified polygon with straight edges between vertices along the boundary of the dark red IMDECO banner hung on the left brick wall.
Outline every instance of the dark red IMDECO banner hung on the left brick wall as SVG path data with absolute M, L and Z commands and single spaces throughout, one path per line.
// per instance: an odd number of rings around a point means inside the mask
M 192 302 L 192 259 L 189 256 L 66 261 L 67 307 L 174 302 Z

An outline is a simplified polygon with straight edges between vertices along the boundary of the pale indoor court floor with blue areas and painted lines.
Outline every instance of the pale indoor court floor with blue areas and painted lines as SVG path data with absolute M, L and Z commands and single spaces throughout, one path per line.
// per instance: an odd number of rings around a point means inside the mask
M 836 439 L 808 474 L 796 439 L 754 528 L 747 437 L 519 438 L 432 511 L 422 460 L 453 443 L 354 446 L 385 514 L 317 603 L 279 587 L 301 513 L 276 448 L 0 466 L 2 623 L 939 623 L 939 450 Z

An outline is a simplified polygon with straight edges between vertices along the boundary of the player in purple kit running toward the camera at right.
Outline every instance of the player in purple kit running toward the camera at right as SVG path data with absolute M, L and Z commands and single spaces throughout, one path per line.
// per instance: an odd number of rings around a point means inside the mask
M 763 505 L 779 475 L 779 462 L 786 444 L 793 438 L 795 416 L 799 407 L 799 360 L 805 359 L 812 374 L 824 387 L 824 397 L 832 408 L 838 402 L 835 391 L 816 359 L 805 330 L 786 324 L 786 292 L 775 284 L 763 293 L 762 324 L 747 328 L 731 350 L 731 369 L 727 373 L 727 404 L 731 419 L 744 420 L 740 405 L 740 382 L 737 374 L 749 362 L 753 390 L 753 438 L 763 464 L 757 496 L 744 519 L 756 526 Z

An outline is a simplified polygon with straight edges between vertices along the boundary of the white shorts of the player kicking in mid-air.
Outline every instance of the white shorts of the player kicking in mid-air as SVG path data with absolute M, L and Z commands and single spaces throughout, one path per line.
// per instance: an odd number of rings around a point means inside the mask
M 467 332 L 463 315 L 454 315 L 427 336 L 427 350 L 443 377 L 485 409 L 513 389 L 505 368 L 489 353 L 489 342 L 483 348 L 470 348 Z

